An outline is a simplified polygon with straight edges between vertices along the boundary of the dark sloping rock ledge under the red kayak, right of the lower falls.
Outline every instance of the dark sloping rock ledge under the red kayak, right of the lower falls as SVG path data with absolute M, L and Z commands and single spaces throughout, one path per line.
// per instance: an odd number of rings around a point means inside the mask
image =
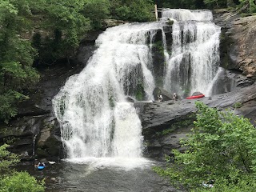
M 235 114 L 250 118 L 256 125 L 256 83 L 226 94 L 218 94 L 208 98 L 198 98 L 173 102 L 134 103 L 140 110 L 142 134 L 146 144 L 146 155 L 162 160 L 171 149 L 184 150 L 178 138 L 190 132 L 195 119 L 194 102 L 204 102 L 207 106 L 218 110 L 229 108 Z M 239 108 L 238 108 L 239 107 Z

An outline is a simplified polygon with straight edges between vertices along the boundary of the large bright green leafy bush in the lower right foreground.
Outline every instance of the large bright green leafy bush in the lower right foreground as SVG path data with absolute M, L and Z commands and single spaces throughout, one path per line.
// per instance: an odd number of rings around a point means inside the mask
M 255 127 L 249 119 L 229 111 L 219 112 L 201 102 L 196 106 L 193 134 L 182 141 L 186 152 L 173 150 L 174 164 L 166 170 L 154 170 L 178 185 L 198 188 L 194 191 L 208 191 L 200 190 L 202 183 L 208 181 L 214 181 L 209 191 L 254 191 Z

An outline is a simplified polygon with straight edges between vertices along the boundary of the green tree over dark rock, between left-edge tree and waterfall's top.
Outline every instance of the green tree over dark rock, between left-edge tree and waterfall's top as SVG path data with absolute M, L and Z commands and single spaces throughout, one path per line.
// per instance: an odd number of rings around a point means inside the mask
M 81 38 L 91 29 L 90 19 L 82 14 L 85 4 L 86 0 L 41 1 L 34 16 L 44 18 L 38 26 L 44 32 L 42 44 L 37 46 L 40 60 L 51 64 L 67 58 L 69 62 L 74 56 Z

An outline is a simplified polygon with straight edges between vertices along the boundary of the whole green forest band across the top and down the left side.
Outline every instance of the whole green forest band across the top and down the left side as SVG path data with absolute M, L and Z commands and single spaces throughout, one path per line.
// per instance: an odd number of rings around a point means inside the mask
M 158 7 L 214 9 L 234 7 L 254 13 L 254 0 L 2 0 L 0 2 L 0 121 L 17 114 L 38 82 L 37 68 L 67 62 L 82 38 L 102 30 L 106 18 L 154 20 Z

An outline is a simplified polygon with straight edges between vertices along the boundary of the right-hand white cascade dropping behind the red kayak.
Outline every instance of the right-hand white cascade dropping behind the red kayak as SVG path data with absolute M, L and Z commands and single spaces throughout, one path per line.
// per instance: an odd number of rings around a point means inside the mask
M 173 43 L 166 55 L 164 88 L 179 95 L 210 94 L 219 66 L 219 34 L 208 10 L 162 10 L 162 21 L 172 19 Z

